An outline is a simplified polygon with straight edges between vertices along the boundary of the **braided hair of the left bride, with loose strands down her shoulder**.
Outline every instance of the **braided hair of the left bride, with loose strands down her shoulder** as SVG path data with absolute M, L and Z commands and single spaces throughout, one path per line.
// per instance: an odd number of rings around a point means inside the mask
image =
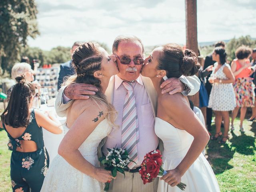
M 85 42 L 76 48 L 72 54 L 72 65 L 76 71 L 76 75 L 70 76 L 64 85 L 72 83 L 86 83 L 92 84 L 98 88 L 95 95 L 90 95 L 96 104 L 103 104 L 108 108 L 106 118 L 110 121 L 113 127 L 116 127 L 114 120 L 116 118 L 116 111 L 114 106 L 108 102 L 106 96 L 102 93 L 101 81 L 99 78 L 94 77 L 94 72 L 101 70 L 101 62 L 103 59 L 99 51 L 99 44 L 94 42 Z

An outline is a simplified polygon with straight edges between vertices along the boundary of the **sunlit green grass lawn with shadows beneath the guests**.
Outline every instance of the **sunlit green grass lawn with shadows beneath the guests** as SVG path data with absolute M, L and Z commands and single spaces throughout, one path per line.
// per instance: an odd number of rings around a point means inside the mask
M 239 131 L 239 120 L 226 144 L 210 140 L 207 147 L 210 162 L 222 192 L 256 192 L 256 122 L 244 120 L 245 133 Z M 212 126 L 211 133 L 214 134 Z M 11 191 L 10 155 L 7 135 L 0 131 L 0 191 Z

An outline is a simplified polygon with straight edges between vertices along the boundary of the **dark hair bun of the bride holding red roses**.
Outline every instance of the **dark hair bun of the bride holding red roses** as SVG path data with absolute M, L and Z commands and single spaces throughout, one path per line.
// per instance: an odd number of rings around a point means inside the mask
M 194 51 L 186 49 L 180 64 L 180 72 L 184 76 L 192 76 L 198 72 L 201 65 L 198 63 L 197 55 Z

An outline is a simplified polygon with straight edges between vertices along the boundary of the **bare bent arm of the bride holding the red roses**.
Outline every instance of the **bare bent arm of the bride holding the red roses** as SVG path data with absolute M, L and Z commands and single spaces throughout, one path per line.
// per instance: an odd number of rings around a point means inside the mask
M 176 186 L 180 183 L 181 177 L 205 148 L 210 136 L 205 126 L 191 110 L 185 97 L 180 94 L 174 94 L 168 96 L 168 98 L 166 97 L 163 102 L 161 102 L 160 108 L 174 120 L 177 128 L 186 130 L 194 137 L 186 156 L 180 164 L 174 170 L 167 171 L 167 174 L 161 178 L 171 186 Z

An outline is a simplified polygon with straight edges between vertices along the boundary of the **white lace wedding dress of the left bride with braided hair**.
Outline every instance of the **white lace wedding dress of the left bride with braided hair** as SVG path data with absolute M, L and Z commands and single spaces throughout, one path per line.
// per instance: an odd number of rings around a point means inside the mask
M 79 147 L 82 156 L 93 166 L 100 166 L 97 148 L 100 141 L 110 131 L 111 126 L 108 121 L 106 119 L 102 120 Z M 60 155 L 57 155 L 50 164 L 41 192 L 103 192 L 103 183 L 83 174 L 68 164 Z

